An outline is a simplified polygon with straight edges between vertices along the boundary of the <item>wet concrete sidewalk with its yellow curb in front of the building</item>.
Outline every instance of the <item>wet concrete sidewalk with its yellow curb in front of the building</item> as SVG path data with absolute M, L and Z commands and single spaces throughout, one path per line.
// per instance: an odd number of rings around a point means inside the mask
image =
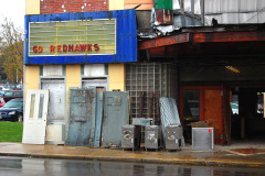
M 214 145 L 210 152 L 192 151 L 191 145 L 177 152 L 124 151 L 121 148 L 93 148 L 86 146 L 31 145 L 21 143 L 0 143 L 0 155 L 22 157 L 71 158 L 89 161 L 116 161 L 161 164 L 191 164 L 206 166 L 234 166 L 265 168 L 265 146 L 257 148 L 259 154 L 237 154 L 231 152 L 235 146 Z M 239 146 L 237 146 L 239 147 Z M 252 147 L 241 146 L 241 148 Z M 255 146 L 256 148 L 256 146 Z

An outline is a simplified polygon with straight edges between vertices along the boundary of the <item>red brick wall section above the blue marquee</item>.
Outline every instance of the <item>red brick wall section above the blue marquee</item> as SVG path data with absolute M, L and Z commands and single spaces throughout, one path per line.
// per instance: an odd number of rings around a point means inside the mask
M 108 0 L 40 0 L 41 14 L 108 11 Z

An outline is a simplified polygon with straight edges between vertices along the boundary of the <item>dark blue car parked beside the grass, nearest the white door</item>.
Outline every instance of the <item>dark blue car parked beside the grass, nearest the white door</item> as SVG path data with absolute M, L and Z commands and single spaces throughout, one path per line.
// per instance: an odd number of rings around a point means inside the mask
M 1 121 L 23 121 L 23 99 L 15 98 L 0 108 Z

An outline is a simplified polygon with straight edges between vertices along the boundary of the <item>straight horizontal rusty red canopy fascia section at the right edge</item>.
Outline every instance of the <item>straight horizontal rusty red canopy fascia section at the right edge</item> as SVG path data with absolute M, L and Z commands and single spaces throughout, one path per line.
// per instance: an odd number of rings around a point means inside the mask
M 193 43 L 265 41 L 265 32 L 195 33 Z

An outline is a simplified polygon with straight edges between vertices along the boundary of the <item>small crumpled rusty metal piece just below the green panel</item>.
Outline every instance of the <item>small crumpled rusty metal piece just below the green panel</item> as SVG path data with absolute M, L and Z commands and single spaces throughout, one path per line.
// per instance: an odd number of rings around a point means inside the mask
M 173 24 L 173 12 L 168 9 L 156 9 L 156 25 Z

